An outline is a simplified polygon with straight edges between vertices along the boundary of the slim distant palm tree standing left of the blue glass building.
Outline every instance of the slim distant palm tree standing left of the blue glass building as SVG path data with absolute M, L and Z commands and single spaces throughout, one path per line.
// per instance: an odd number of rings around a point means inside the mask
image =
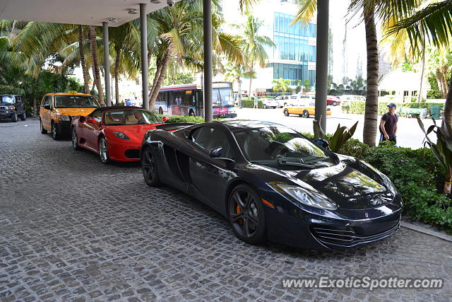
M 248 59 L 246 62 L 246 69 L 248 69 L 250 73 L 254 73 L 256 64 L 261 66 L 261 68 L 266 66 L 268 54 L 265 47 L 275 47 L 275 44 L 270 37 L 258 35 L 259 29 L 263 25 L 263 21 L 254 18 L 249 11 L 245 12 L 245 17 L 245 22 L 241 25 L 235 25 L 235 27 L 239 28 L 242 33 L 242 47 Z M 251 97 L 251 81 L 252 77 L 249 78 L 249 97 Z

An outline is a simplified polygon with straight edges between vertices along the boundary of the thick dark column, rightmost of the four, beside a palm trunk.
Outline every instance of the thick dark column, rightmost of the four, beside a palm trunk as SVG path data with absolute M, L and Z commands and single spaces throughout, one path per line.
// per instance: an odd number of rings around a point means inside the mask
M 329 0 L 317 0 L 316 120 L 326 132 L 326 94 L 328 89 L 328 8 Z

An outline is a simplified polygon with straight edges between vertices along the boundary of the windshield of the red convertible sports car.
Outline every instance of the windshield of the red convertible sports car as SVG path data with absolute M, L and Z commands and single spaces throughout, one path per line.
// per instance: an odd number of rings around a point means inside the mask
M 108 110 L 105 112 L 104 124 L 127 125 L 127 124 L 163 124 L 160 117 L 146 110 Z

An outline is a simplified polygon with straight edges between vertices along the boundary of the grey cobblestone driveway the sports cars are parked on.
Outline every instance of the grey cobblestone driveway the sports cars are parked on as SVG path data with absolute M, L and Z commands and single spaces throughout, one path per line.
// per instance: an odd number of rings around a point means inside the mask
M 452 244 L 401 228 L 346 251 L 251 246 L 200 202 L 0 122 L 1 301 L 450 301 Z M 283 277 L 436 277 L 443 289 L 285 289 Z

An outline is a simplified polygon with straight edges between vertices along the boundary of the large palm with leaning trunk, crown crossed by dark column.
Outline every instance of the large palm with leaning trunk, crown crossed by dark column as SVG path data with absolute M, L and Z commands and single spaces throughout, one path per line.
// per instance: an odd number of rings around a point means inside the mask
M 234 35 L 220 31 L 222 18 L 218 14 L 219 3 L 213 2 L 213 50 L 230 62 L 244 63 L 240 41 Z M 149 94 L 149 108 L 153 108 L 167 73 L 171 59 L 177 60 L 191 70 L 203 67 L 203 1 L 179 1 L 172 8 L 166 7 L 150 13 L 157 33 L 151 37 L 150 52 L 155 57 L 156 72 Z M 215 59 L 215 57 L 214 57 Z

